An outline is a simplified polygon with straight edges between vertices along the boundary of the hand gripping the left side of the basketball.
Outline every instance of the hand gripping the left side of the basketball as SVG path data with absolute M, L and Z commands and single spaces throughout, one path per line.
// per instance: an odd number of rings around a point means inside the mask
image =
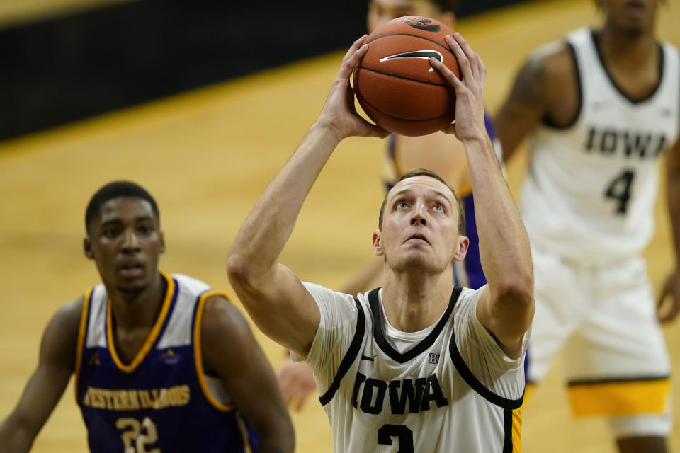
M 317 124 L 330 127 L 336 132 L 339 140 L 346 137 L 387 137 L 390 132 L 371 124 L 356 113 L 354 107 L 354 91 L 349 83 L 352 71 L 368 50 L 365 44 L 367 35 L 356 40 L 342 59 L 340 71 L 331 91 L 328 94 L 324 108 L 319 115 Z

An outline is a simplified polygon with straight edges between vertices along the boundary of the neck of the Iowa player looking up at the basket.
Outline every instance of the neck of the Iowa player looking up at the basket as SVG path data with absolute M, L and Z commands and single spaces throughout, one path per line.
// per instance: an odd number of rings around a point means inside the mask
M 420 277 L 417 282 L 391 274 L 385 276 L 382 304 L 394 328 L 417 332 L 436 323 L 446 311 L 452 291 L 452 273 Z

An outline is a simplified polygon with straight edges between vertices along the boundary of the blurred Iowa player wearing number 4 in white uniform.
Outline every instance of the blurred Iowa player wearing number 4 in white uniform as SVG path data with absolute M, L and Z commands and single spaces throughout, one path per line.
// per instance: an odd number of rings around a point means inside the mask
M 658 0 L 599 6 L 602 28 L 537 50 L 496 118 L 506 159 L 529 138 L 521 192 L 536 268 L 528 380 L 540 381 L 564 347 L 574 414 L 608 416 L 621 452 L 665 452 L 669 359 L 640 255 L 667 149 L 680 246 L 680 63 L 655 38 Z M 679 303 L 680 266 L 658 318 L 674 318 Z

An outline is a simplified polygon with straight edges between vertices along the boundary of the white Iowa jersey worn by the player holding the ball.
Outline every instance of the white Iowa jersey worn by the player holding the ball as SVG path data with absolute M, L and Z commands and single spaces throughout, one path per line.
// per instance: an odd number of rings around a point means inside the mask
M 506 357 L 477 320 L 481 289 L 454 289 L 429 333 L 399 352 L 381 289 L 353 299 L 305 287 L 321 311 L 307 363 L 335 452 L 519 452 L 523 354 Z

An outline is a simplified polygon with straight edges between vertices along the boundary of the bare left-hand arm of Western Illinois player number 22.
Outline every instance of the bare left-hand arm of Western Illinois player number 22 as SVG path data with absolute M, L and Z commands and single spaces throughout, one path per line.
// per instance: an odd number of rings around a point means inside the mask
M 75 369 L 83 301 L 62 307 L 45 328 L 38 368 L 28 379 L 16 408 L 0 424 L 3 452 L 28 452 L 66 389 Z

